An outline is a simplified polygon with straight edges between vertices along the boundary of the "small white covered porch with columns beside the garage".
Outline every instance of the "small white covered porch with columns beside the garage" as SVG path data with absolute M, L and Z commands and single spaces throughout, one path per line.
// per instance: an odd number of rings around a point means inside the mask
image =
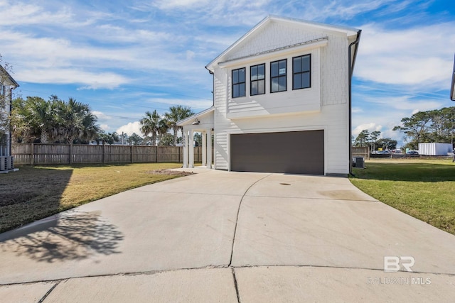
M 200 113 L 178 121 L 177 125 L 183 127 L 183 168 L 194 167 L 194 134 L 202 136 L 202 166 L 215 168 L 213 164 L 213 107 Z

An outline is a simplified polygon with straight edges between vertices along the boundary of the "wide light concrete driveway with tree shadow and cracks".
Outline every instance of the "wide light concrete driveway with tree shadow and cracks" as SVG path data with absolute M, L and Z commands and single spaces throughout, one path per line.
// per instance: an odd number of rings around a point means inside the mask
M 348 179 L 195 171 L 0 234 L 2 302 L 453 302 L 455 236 Z

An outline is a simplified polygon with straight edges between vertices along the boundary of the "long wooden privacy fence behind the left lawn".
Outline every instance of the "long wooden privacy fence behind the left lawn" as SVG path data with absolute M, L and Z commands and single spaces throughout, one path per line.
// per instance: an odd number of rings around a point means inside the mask
M 181 146 L 13 143 L 15 165 L 183 162 Z M 194 148 L 202 161 L 202 147 Z

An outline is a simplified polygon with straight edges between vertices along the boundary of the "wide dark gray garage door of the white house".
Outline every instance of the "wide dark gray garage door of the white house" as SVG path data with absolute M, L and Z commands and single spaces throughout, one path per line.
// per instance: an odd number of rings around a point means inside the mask
M 324 131 L 232 134 L 230 161 L 236 172 L 323 175 Z

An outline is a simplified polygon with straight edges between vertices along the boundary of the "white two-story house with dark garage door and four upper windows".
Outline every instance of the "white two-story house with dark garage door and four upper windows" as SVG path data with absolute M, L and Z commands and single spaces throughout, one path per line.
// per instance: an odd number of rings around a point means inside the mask
M 178 122 L 183 167 L 193 133 L 218 170 L 346 175 L 351 170 L 350 82 L 360 30 L 269 16 L 206 68 L 213 106 Z

